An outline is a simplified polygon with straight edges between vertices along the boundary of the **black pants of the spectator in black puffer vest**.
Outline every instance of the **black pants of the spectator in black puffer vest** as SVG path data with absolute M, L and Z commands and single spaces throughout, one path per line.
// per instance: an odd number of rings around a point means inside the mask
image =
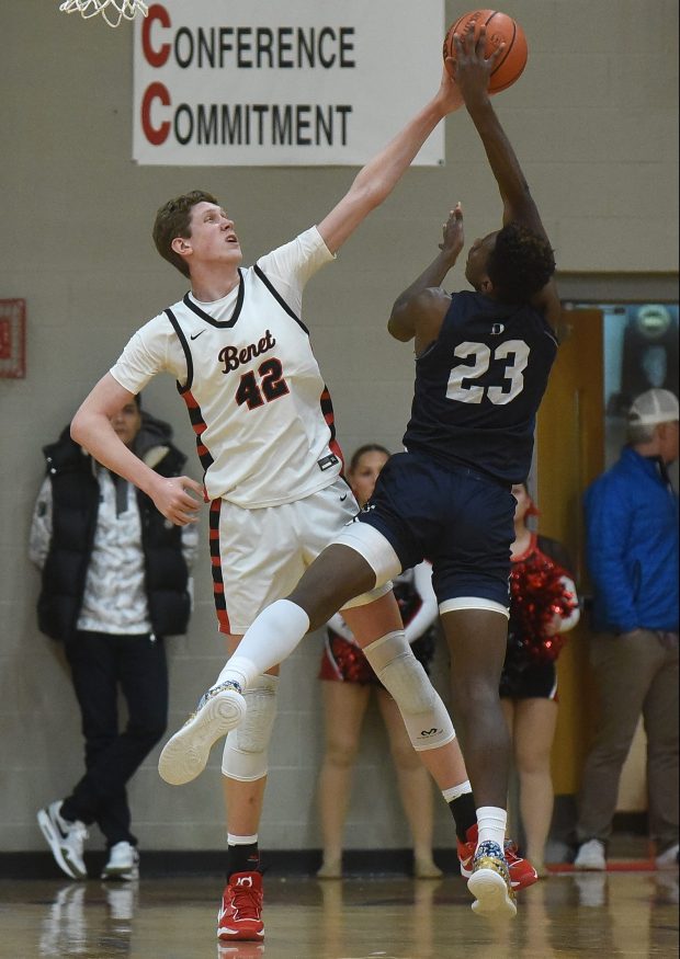
M 78 632 L 66 657 L 86 740 L 86 774 L 64 801 L 61 815 L 95 822 L 109 846 L 136 845 L 125 785 L 162 737 L 168 723 L 168 666 L 162 639 Z M 118 688 L 127 704 L 118 730 Z

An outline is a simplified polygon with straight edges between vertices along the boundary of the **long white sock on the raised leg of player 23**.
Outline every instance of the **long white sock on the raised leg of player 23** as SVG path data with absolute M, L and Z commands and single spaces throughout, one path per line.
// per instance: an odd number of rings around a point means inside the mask
M 227 680 L 246 689 L 261 673 L 287 659 L 309 629 L 309 617 L 290 600 L 276 600 L 256 618 L 215 686 Z

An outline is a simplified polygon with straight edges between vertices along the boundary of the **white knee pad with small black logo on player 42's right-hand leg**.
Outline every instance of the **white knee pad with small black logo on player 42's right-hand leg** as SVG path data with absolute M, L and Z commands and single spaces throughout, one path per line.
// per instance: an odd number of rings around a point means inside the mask
M 434 750 L 455 739 L 449 711 L 404 632 L 376 639 L 364 654 L 399 707 L 413 749 Z

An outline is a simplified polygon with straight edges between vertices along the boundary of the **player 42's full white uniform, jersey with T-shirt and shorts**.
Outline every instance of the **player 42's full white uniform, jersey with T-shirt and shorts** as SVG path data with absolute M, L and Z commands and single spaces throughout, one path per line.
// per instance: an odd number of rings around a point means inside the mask
M 239 270 L 222 299 L 186 294 L 135 333 L 111 369 L 133 393 L 170 373 L 186 402 L 212 501 L 225 633 L 245 632 L 287 595 L 359 510 L 340 477 L 330 397 L 301 320 L 305 284 L 333 259 L 311 227 Z

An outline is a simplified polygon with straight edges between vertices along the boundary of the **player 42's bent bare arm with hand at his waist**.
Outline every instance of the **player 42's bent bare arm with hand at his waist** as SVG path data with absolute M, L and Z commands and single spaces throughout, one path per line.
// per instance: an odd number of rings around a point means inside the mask
M 127 448 L 111 425 L 111 418 L 133 399 L 133 393 L 106 373 L 73 416 L 71 437 L 103 466 L 147 493 L 167 520 L 178 526 L 195 523 L 203 498 L 201 483 L 186 476 L 159 476 Z M 186 490 L 193 490 L 200 499 Z

